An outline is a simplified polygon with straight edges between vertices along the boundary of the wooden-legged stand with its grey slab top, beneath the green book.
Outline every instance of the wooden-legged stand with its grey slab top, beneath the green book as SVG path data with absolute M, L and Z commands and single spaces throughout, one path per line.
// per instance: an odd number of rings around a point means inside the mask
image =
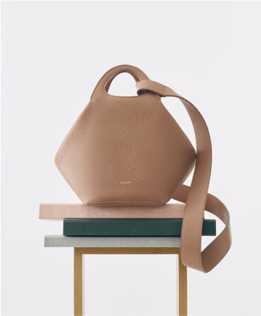
M 180 260 L 179 237 L 65 237 L 45 236 L 46 247 L 74 247 L 74 316 L 83 315 L 83 258 L 85 254 L 176 254 L 177 315 L 187 315 L 187 268 Z

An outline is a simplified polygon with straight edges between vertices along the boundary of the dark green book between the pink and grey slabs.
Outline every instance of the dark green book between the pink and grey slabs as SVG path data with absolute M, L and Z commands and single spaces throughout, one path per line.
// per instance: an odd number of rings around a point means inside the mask
M 180 237 L 182 218 L 84 218 L 63 220 L 65 236 Z M 215 220 L 203 220 L 203 236 L 215 236 Z

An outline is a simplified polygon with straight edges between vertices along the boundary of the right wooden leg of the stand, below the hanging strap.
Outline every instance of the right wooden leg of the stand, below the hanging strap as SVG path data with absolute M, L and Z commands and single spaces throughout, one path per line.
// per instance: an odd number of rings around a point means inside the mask
M 182 264 L 180 254 L 177 256 L 177 315 L 187 316 L 187 267 Z

